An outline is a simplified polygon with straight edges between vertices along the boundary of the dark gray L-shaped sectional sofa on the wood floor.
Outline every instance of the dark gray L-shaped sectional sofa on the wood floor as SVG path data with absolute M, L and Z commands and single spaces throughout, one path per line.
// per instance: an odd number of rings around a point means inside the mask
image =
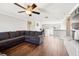
M 0 51 L 13 47 L 22 42 L 29 42 L 39 45 L 43 43 L 42 35 L 42 31 L 0 32 Z

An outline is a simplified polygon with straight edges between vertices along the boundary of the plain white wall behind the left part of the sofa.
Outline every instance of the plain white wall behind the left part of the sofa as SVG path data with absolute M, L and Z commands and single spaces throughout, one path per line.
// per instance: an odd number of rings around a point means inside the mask
M 0 14 L 0 32 L 26 30 L 25 20 Z

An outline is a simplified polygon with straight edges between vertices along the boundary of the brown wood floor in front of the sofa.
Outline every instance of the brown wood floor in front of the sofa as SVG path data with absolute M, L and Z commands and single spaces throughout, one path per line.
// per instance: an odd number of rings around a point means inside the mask
M 24 42 L 2 53 L 8 56 L 68 56 L 63 40 L 54 37 L 45 37 L 39 46 Z

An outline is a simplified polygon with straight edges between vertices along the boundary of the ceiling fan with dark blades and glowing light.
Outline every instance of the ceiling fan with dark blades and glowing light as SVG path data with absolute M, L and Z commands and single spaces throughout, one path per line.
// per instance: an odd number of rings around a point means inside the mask
M 24 9 L 24 11 L 19 11 L 18 13 L 23 13 L 26 12 L 29 16 L 32 16 L 32 13 L 39 15 L 40 13 L 36 11 L 37 9 L 37 5 L 36 4 L 32 4 L 32 5 L 28 5 L 27 8 L 21 6 L 18 3 L 14 3 L 15 5 L 17 5 L 18 7 Z

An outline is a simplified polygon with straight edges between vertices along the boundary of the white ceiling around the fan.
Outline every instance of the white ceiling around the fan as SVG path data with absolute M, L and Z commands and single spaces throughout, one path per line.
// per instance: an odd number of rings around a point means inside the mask
M 28 5 L 27 3 L 19 3 L 22 6 Z M 17 13 L 22 11 L 20 7 L 14 5 L 13 3 L 0 3 L 0 13 L 8 16 L 13 16 L 19 19 L 27 20 L 34 19 L 40 21 L 59 21 L 63 20 L 64 17 L 74 8 L 76 3 L 36 3 L 39 7 L 40 15 L 33 14 L 32 17 L 29 17 L 26 13 Z M 47 19 L 44 17 L 48 16 Z

